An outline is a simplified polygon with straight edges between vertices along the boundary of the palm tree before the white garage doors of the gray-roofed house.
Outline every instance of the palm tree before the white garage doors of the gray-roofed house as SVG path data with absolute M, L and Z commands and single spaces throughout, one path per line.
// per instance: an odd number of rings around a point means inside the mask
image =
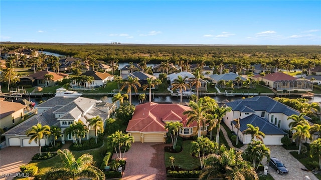
M 44 138 L 44 136 L 50 135 L 50 126 L 44 125 L 42 126 L 41 123 L 37 123 L 37 125 L 33 125 L 30 130 L 26 132 L 26 135 L 30 137 L 29 143 L 31 143 L 33 140 L 38 143 L 39 146 L 39 154 L 41 153 L 41 139 Z

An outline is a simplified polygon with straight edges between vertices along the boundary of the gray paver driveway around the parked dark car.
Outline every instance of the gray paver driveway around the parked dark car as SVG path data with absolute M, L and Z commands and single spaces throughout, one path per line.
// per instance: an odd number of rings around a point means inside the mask
M 276 171 L 268 165 L 268 173 L 272 175 L 275 180 L 293 179 L 293 180 L 303 180 L 305 176 L 309 176 L 311 180 L 317 180 L 312 172 L 304 171 L 305 166 L 301 164 L 296 158 L 293 157 L 289 152 L 293 150 L 286 150 L 281 145 L 266 145 L 270 147 L 271 157 L 276 157 L 280 159 L 284 165 L 289 169 L 288 174 L 278 174 Z M 265 163 L 266 161 L 263 161 Z

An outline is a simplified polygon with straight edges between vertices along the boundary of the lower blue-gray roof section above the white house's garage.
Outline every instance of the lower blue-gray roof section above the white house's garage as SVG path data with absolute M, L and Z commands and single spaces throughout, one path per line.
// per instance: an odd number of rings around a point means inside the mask
M 233 124 L 236 124 L 234 120 Z M 264 134 L 286 134 L 286 132 L 284 132 L 282 129 L 255 114 L 251 114 L 240 119 L 240 131 L 248 128 L 246 124 L 252 124 L 254 127 L 259 127 L 260 131 L 262 131 Z

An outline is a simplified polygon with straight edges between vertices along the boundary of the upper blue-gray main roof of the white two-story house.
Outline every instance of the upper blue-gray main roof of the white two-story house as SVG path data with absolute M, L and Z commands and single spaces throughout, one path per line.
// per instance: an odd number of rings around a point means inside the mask
M 233 111 L 248 110 L 247 108 L 253 109 L 254 111 L 267 111 L 268 113 L 283 113 L 287 116 L 292 114 L 300 114 L 299 111 L 282 104 L 269 96 L 259 95 L 255 97 L 250 97 L 246 99 L 238 99 L 226 103 L 227 106 L 231 107 Z M 245 108 L 247 107 L 247 108 Z M 244 111 L 248 112 L 248 111 Z M 304 116 L 305 119 L 311 119 L 308 116 Z

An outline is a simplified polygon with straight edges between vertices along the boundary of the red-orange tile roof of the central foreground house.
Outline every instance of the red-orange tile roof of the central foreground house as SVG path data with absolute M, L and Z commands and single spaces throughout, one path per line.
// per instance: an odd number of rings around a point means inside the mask
M 148 102 L 135 107 L 134 114 L 129 120 L 127 132 L 167 132 L 166 121 L 181 121 L 183 127 L 188 127 L 187 115 L 183 112 L 191 107 L 181 104 L 163 104 Z M 197 126 L 197 122 L 192 122 L 189 127 Z

